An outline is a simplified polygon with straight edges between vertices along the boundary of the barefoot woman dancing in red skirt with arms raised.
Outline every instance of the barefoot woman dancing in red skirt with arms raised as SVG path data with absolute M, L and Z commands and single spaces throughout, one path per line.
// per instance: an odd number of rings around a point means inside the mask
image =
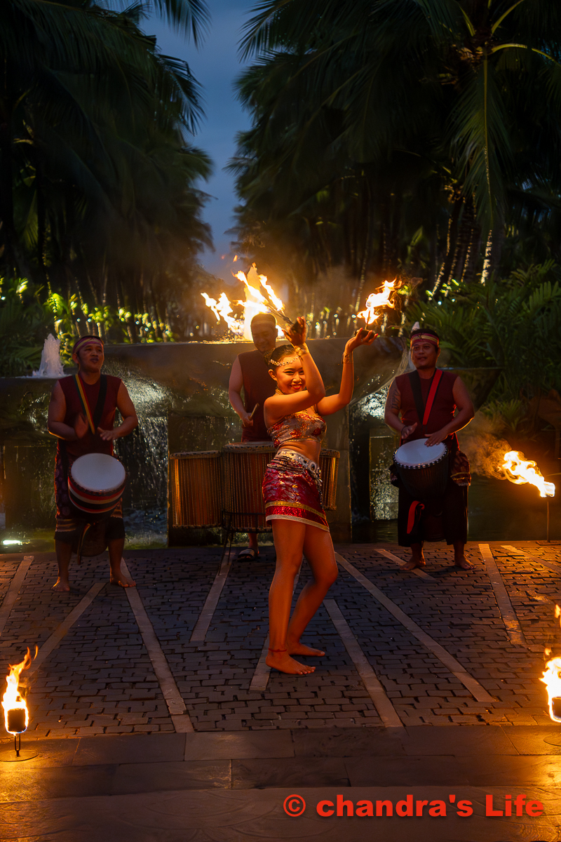
M 277 568 L 269 591 L 269 651 L 267 664 L 282 673 L 307 674 L 315 670 L 292 655 L 324 655 L 300 642 L 304 629 L 337 578 L 337 565 L 329 526 L 321 504 L 318 461 L 325 421 L 351 401 L 352 351 L 373 342 L 372 331 L 358 330 L 343 354 L 343 373 L 338 395 L 325 397 L 320 372 L 305 344 L 303 317 L 284 335 L 291 343 L 281 345 L 270 358 L 269 374 L 277 381 L 273 397 L 264 403 L 267 432 L 278 446 L 263 478 L 267 520 L 273 524 Z M 294 608 L 290 605 L 294 578 L 304 553 L 312 571 Z

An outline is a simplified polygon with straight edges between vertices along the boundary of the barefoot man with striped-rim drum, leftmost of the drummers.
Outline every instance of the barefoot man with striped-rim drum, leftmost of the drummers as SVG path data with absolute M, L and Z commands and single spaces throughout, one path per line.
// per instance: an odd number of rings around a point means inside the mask
M 72 349 L 72 360 L 78 366 L 78 381 L 74 376 L 62 377 L 50 396 L 49 432 L 58 439 L 55 466 L 58 578 L 55 590 L 70 590 L 68 566 L 72 545 L 77 544 L 83 526 L 68 497 L 68 471 L 72 462 L 87 453 L 113 456 L 114 440 L 128 435 L 138 424 L 135 407 L 123 381 L 101 374 L 103 359 L 100 338 L 79 338 Z M 114 428 L 116 408 L 123 417 L 123 424 Z M 111 567 L 110 581 L 130 588 L 135 582 L 121 570 L 124 524 L 120 501 L 105 525 L 105 540 Z

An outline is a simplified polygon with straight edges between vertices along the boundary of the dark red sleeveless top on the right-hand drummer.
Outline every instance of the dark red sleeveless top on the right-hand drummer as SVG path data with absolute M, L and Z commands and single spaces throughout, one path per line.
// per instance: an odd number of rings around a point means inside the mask
M 416 376 L 416 372 L 413 372 Z M 415 397 L 411 389 L 410 373 L 401 374 L 395 378 L 395 383 L 400 390 L 401 395 L 401 421 L 406 426 L 410 424 L 417 424 L 417 429 L 412 433 L 407 441 L 415 439 L 423 439 L 427 433 L 437 433 L 442 427 L 450 424 L 456 411 L 456 402 L 453 396 L 453 386 L 456 382 L 457 374 L 453 371 L 442 371 L 442 378 L 438 384 L 437 397 L 435 397 L 432 404 L 431 414 L 426 424 L 426 428 L 422 429 L 422 418 L 417 414 L 415 406 Z M 423 403 L 426 405 L 426 399 L 431 389 L 432 380 L 426 380 L 424 377 L 419 377 L 421 381 L 421 395 Z M 448 450 L 458 450 L 458 438 L 455 433 L 447 436 L 444 440 Z

